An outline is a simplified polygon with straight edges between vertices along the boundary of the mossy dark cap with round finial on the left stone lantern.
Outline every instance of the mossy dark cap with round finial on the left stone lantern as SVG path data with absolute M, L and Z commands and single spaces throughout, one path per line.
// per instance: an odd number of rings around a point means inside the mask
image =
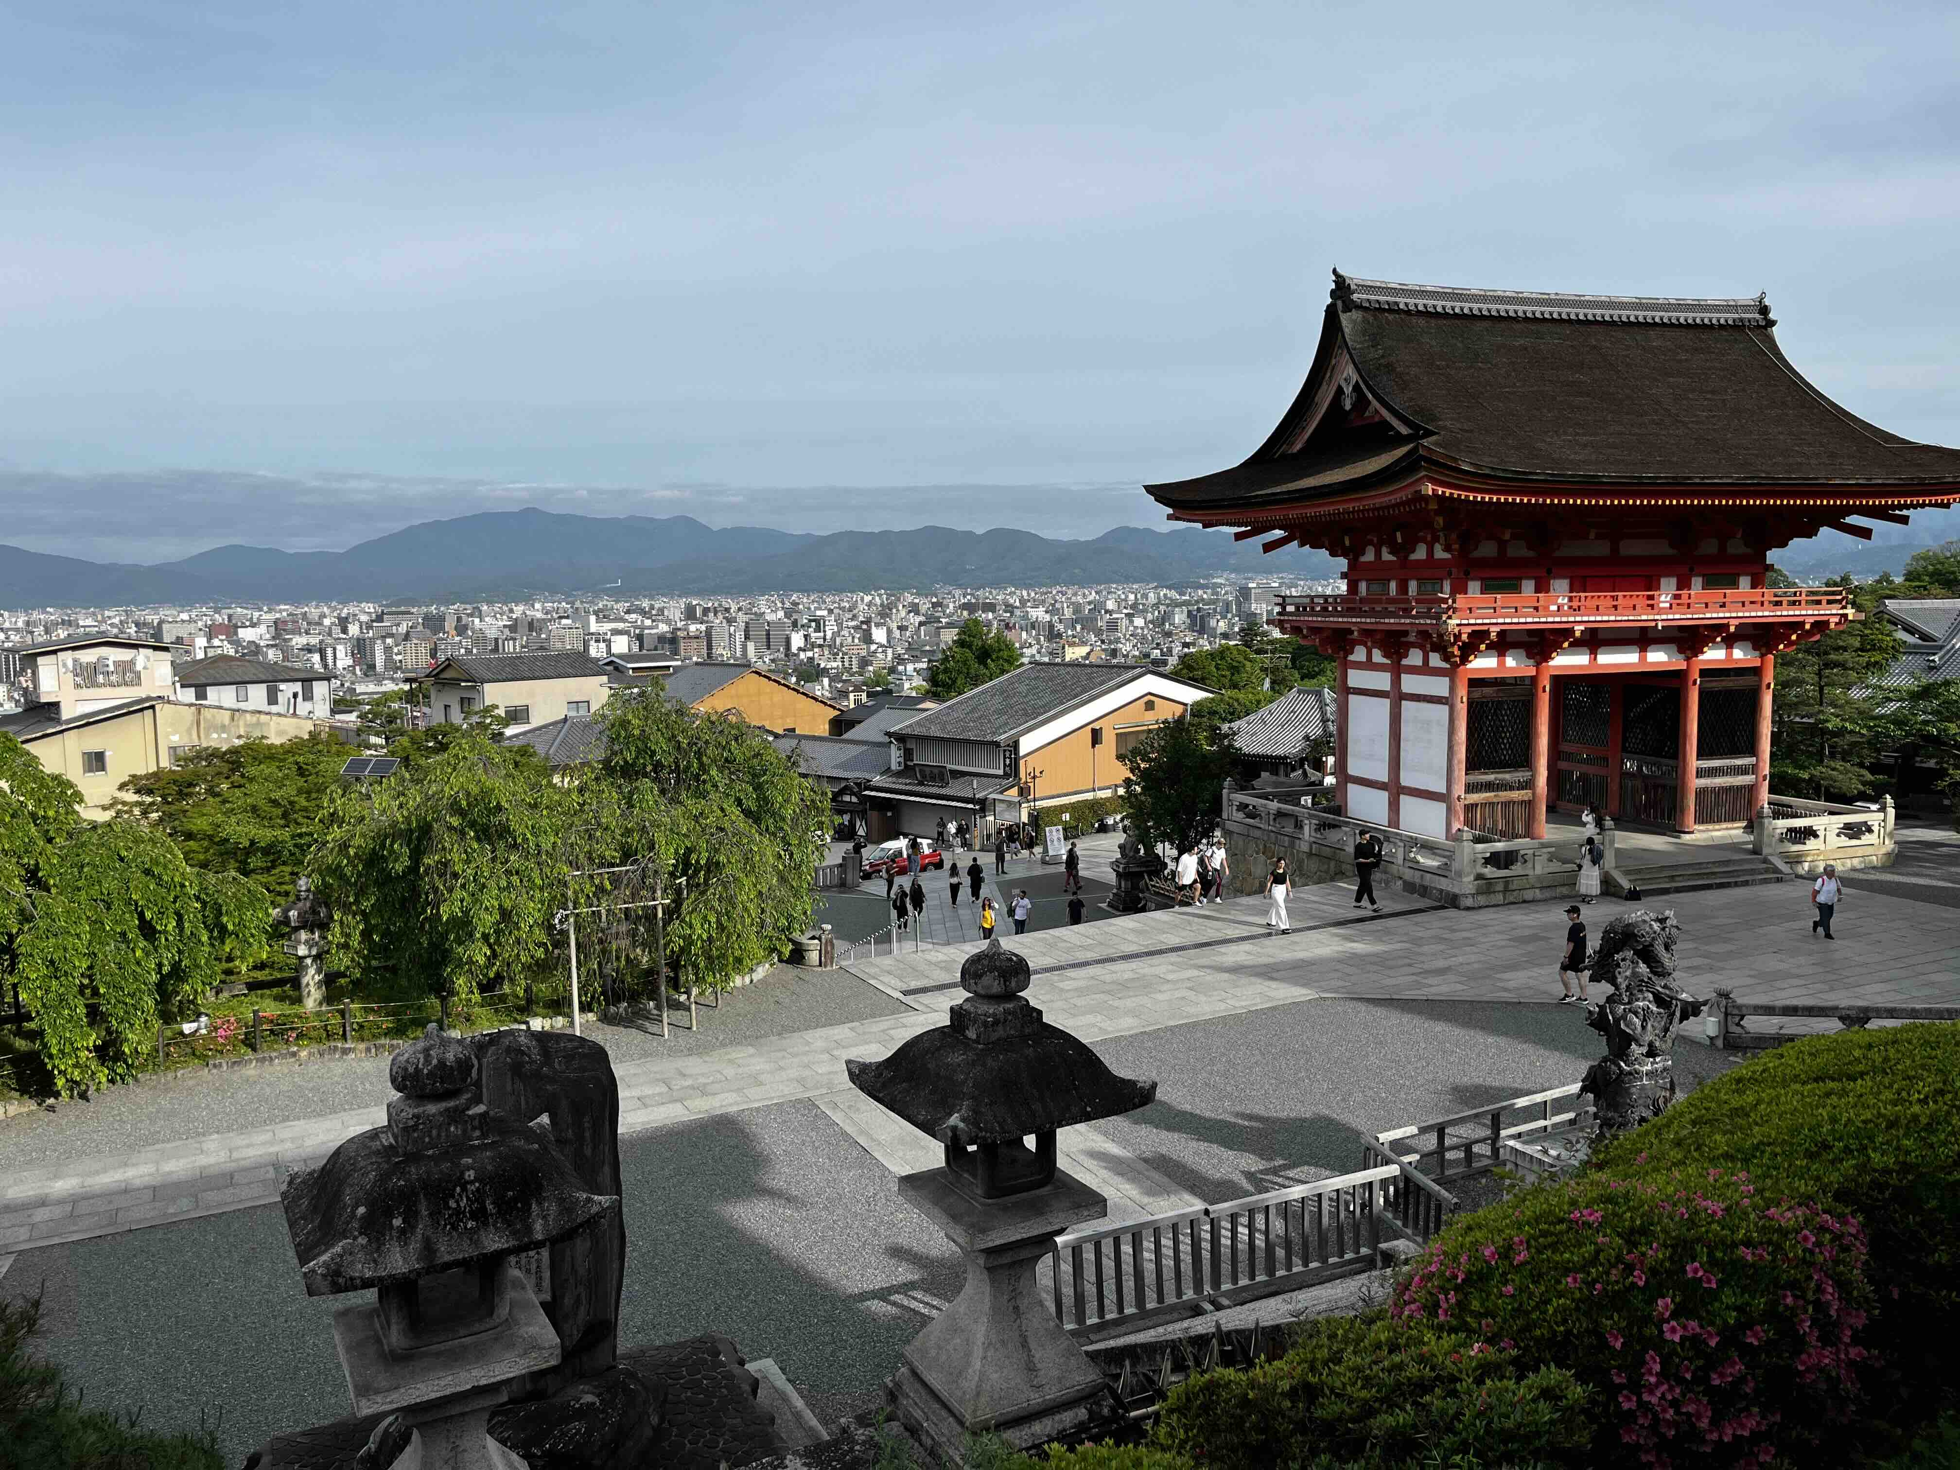
M 476 1056 L 429 1027 L 396 1053 L 402 1096 L 280 1194 L 308 1296 L 398 1286 L 563 1241 L 619 1207 L 582 1188 L 543 1133 L 492 1113 Z

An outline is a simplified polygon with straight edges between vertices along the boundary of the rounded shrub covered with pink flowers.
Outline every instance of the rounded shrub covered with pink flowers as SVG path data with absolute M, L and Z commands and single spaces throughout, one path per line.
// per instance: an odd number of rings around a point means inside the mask
M 1599 1462 L 1764 1466 L 1860 1396 L 1864 1260 L 1854 1219 L 1746 1174 L 1590 1174 L 1445 1231 L 1392 1313 L 1570 1368 L 1595 1390 Z

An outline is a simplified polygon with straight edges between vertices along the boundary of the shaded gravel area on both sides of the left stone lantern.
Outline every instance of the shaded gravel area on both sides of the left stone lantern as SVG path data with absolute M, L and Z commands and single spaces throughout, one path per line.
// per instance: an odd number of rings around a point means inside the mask
M 870 1407 L 953 1249 L 813 1103 L 727 1113 L 621 1141 L 621 1341 L 713 1329 L 772 1356 L 823 1423 Z M 39 1350 L 100 1407 L 196 1427 L 221 1407 L 225 1460 L 276 1429 L 349 1411 L 333 1301 L 308 1298 L 276 1205 L 22 1254 L 0 1290 L 43 1292 Z

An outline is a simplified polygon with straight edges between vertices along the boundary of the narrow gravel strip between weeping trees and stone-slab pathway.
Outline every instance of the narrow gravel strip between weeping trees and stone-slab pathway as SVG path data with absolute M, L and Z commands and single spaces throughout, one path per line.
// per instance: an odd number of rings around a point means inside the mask
M 615 1062 L 633 1062 L 741 1047 L 904 1009 L 845 970 L 780 964 L 753 986 L 723 996 L 721 1009 L 702 1007 L 698 1033 L 686 1029 L 682 1011 L 666 1041 L 655 1027 L 639 1031 L 598 1021 L 586 1025 L 586 1035 L 604 1043 Z M 65 1102 L 0 1121 L 0 1172 L 380 1107 L 388 1096 L 386 1056 L 147 1078 L 98 1092 L 92 1102 Z

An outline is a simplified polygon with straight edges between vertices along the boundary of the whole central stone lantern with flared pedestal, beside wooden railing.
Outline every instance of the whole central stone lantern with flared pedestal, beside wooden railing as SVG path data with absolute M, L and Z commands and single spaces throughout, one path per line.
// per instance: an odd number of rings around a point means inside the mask
M 1021 996 L 1027 960 L 992 941 L 960 966 L 951 1023 L 882 1062 L 845 1062 L 851 1086 L 945 1149 L 945 1166 L 898 1182 L 966 1256 L 966 1288 L 906 1348 L 890 1394 L 900 1421 L 960 1462 L 970 1435 L 1015 1448 L 1088 1419 L 1103 1378 L 1054 1319 L 1035 1268 L 1107 1200 L 1054 1166 L 1054 1135 L 1156 1098 L 1115 1076 Z

